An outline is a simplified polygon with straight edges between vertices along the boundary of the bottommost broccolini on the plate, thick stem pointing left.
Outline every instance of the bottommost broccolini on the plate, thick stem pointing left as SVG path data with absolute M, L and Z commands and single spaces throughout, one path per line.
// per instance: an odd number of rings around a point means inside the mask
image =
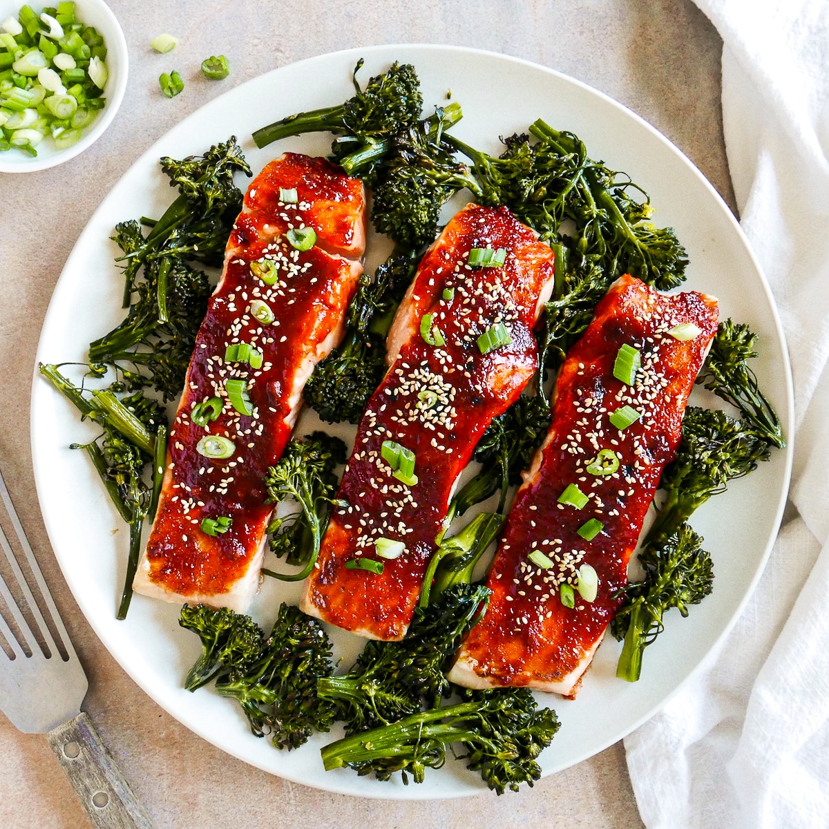
M 399 771 L 404 783 L 409 774 L 423 783 L 426 768 L 443 766 L 448 747 L 460 744 L 464 753 L 458 758 L 498 794 L 541 778 L 537 759 L 559 730 L 555 711 L 537 710 L 526 688 L 463 689 L 462 698 L 457 705 L 421 711 L 328 744 L 322 763 L 329 771 L 348 766 L 378 780 Z

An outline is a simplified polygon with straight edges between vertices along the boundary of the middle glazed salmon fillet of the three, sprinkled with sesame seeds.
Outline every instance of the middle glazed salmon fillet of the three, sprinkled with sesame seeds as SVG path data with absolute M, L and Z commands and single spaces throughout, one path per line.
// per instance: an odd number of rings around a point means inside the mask
M 487 249 L 503 264 L 469 264 Z M 446 225 L 395 314 L 305 613 L 366 638 L 405 635 L 458 476 L 536 371 L 532 329 L 553 281 L 550 246 L 506 208 L 469 205 Z

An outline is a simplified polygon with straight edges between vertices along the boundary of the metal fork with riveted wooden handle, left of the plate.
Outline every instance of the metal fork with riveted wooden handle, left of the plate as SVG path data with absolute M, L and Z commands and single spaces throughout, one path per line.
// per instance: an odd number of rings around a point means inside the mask
M 0 710 L 21 731 L 46 734 L 95 829 L 152 829 L 143 805 L 80 710 L 89 683 L 2 474 L 0 498 L 22 550 L 18 561 L 0 526 L 0 546 L 7 559 L 7 567 L 0 567 Z M 24 560 L 29 580 L 22 571 Z

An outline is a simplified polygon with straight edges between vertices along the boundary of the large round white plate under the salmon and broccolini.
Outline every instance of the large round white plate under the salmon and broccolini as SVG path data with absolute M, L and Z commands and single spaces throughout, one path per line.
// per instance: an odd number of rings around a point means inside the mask
M 687 287 L 715 294 L 724 316 L 749 322 L 759 333 L 762 354 L 754 367 L 788 433 L 790 371 L 768 286 L 739 225 L 696 167 L 638 116 L 578 81 L 506 56 L 448 46 L 376 46 L 285 66 L 222 95 L 178 124 L 133 164 L 80 235 L 52 297 L 38 359 L 84 360 L 90 340 L 123 318 L 122 280 L 113 264 L 117 250 L 109 235 L 116 221 L 158 216 L 169 202 L 171 191 L 158 169 L 160 156 L 201 153 L 230 134 L 239 136 L 255 172 L 284 149 L 326 153 L 327 137 L 303 136 L 258 150 L 250 133 L 298 110 L 346 99 L 351 70 L 361 56 L 366 59 L 363 80 L 391 61 L 414 63 L 429 105 L 445 101 L 452 90 L 452 99 L 463 104 L 464 112 L 454 132 L 478 147 L 495 152 L 499 135 L 526 129 L 543 117 L 578 133 L 594 158 L 630 173 L 646 187 L 659 208 L 657 221 L 673 225 L 690 254 Z M 375 250 L 371 259 L 379 261 L 382 255 L 385 250 Z M 297 432 L 306 434 L 316 424 L 316 416 L 306 412 Z M 80 424 L 74 410 L 36 376 L 32 452 L 52 545 L 95 632 L 153 700 L 230 754 L 309 786 L 392 798 L 457 797 L 485 790 L 477 774 L 452 761 L 429 771 L 420 786 L 404 787 L 399 779 L 378 783 L 348 770 L 326 773 L 318 749 L 339 732 L 317 735 L 290 754 L 280 752 L 267 739 L 250 734 L 231 701 L 212 691 L 184 691 L 182 678 L 200 646 L 192 633 L 178 627 L 177 606 L 136 596 L 127 621 L 115 619 L 128 533 L 87 458 L 67 448 L 94 435 L 95 429 Z M 667 631 L 647 649 L 641 681 L 616 679 L 619 646 L 608 638 L 578 699 L 540 695 L 543 704 L 555 707 L 562 724 L 541 757 L 545 774 L 596 754 L 647 720 L 715 648 L 763 568 L 782 515 L 790 458 L 790 449 L 773 453 L 769 463 L 696 513 L 694 526 L 715 560 L 715 591 L 686 620 L 671 618 Z M 295 601 L 299 590 L 273 579 L 267 582 L 252 608 L 263 625 L 272 622 L 280 600 Z M 341 652 L 356 652 L 356 639 L 350 635 L 334 632 L 334 639 Z

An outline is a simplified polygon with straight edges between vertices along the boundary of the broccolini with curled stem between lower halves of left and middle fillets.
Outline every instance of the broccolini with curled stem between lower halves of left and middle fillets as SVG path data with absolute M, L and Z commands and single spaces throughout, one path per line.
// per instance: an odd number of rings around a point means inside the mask
M 314 432 L 303 441 L 292 440 L 282 458 L 269 468 L 265 478 L 269 502 L 293 500 L 300 507 L 295 516 L 271 521 L 270 548 L 276 555 L 285 555 L 288 564 L 304 566 L 293 575 L 272 570 L 264 570 L 265 574 L 282 581 L 299 581 L 311 572 L 337 492 L 334 468 L 340 463 L 346 463 L 346 444 L 325 432 Z

